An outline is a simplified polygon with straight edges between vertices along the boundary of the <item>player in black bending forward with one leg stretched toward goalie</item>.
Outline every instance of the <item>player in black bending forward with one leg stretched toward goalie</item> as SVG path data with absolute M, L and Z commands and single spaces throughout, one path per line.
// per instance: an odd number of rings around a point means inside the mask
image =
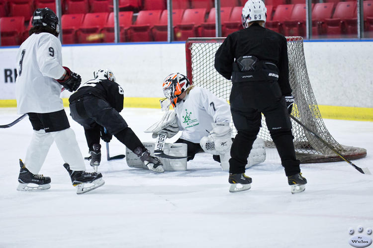
M 86 82 L 69 98 L 72 118 L 83 125 L 92 155 L 91 166 L 97 168 L 101 160 L 101 138 L 109 142 L 114 135 L 133 151 L 154 172 L 163 172 L 160 160 L 150 156 L 136 134 L 119 114 L 123 109 L 123 89 L 115 82 L 109 69 L 93 72 L 94 79 Z

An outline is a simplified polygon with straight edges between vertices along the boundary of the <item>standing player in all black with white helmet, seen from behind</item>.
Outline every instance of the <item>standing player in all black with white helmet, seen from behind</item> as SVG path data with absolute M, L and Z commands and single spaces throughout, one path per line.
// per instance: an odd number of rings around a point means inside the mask
M 262 113 L 285 169 L 291 192 L 305 189 L 306 179 L 295 157 L 291 133 L 291 95 L 286 38 L 264 27 L 267 8 L 249 0 L 242 9 L 243 30 L 225 39 L 215 54 L 215 68 L 232 80 L 230 105 L 237 129 L 229 160 L 230 191 L 250 189 L 245 175 L 247 157 L 261 126 Z

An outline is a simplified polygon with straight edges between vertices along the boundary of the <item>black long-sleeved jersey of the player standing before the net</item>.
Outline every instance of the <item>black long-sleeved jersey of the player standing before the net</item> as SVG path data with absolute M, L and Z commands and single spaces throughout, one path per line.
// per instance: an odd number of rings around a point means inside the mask
M 230 80 L 235 59 L 250 55 L 275 63 L 282 95 L 291 94 L 286 38 L 258 23 L 228 35 L 215 54 L 215 68 Z

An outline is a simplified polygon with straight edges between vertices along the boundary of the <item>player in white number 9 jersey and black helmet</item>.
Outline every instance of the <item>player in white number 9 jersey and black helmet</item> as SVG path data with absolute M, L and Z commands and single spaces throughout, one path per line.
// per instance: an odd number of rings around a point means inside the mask
M 33 13 L 30 36 L 18 50 L 17 112 L 28 115 L 34 133 L 25 163 L 19 160 L 21 169 L 17 190 L 50 188 L 50 178 L 37 174 L 53 141 L 61 153 L 73 186 L 77 186 L 77 193 L 104 184 L 101 174 L 85 172 L 82 153 L 60 99 L 61 89 L 77 90 L 81 77 L 62 66 L 58 30 L 56 14 L 49 8 L 38 8 Z M 85 187 L 86 183 L 93 186 Z

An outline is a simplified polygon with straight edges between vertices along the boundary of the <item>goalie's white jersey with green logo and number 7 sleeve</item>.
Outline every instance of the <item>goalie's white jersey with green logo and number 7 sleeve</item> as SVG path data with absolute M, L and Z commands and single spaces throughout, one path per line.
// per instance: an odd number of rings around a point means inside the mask
M 183 131 L 180 138 L 199 143 L 212 130 L 212 123 L 230 123 L 228 103 L 210 91 L 194 87 L 175 108 L 178 125 Z

